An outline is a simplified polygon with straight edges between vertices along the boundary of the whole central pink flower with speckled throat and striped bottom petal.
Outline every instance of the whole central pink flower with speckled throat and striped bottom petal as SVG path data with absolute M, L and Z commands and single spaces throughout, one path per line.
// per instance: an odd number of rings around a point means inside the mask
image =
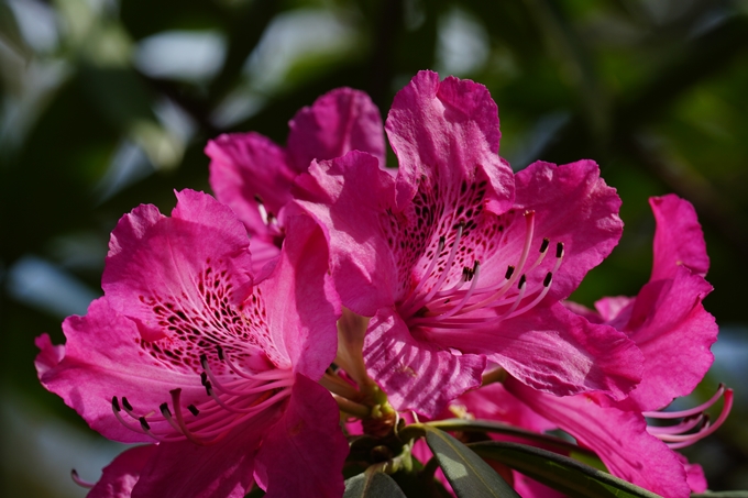
M 396 178 L 363 153 L 312 162 L 297 206 L 331 244 L 343 305 L 373 317 L 364 356 L 399 410 L 435 416 L 486 359 L 537 389 L 620 398 L 641 356 L 559 300 L 615 246 L 620 200 L 582 161 L 513 175 L 485 87 L 419 73 L 386 131 Z

